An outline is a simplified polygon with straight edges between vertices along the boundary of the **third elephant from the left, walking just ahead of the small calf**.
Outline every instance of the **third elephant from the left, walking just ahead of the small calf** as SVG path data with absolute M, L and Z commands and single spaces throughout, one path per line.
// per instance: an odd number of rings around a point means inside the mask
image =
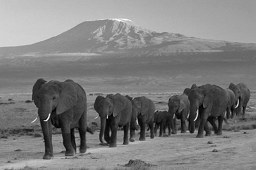
M 146 140 L 145 128 L 148 124 L 150 128 L 150 138 L 155 137 L 154 133 L 154 112 L 155 103 L 145 96 L 136 97 L 132 101 L 132 114 L 137 115 L 137 119 L 140 125 L 140 141 Z M 131 142 L 135 141 L 135 130 L 130 128 L 130 139 Z

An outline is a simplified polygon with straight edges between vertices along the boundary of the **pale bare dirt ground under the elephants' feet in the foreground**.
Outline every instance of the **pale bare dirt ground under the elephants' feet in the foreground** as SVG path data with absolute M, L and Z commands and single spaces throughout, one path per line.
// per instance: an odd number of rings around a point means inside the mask
M 244 134 L 244 132 L 247 132 Z M 138 131 L 139 133 L 139 131 Z M 10 136 L 0 139 L 0 169 L 27 167 L 45 169 L 113 169 L 121 167 L 130 159 L 151 163 L 152 169 L 256 169 L 256 129 L 239 132 L 223 131 L 223 135 L 196 138 L 197 132 L 178 133 L 171 137 L 158 137 L 123 145 L 123 131 L 118 131 L 116 148 L 99 145 L 99 131 L 87 133 L 86 153 L 66 157 L 61 134 L 53 135 L 54 159 L 43 160 L 44 139 L 32 136 Z M 159 133 L 159 130 L 158 130 Z M 148 134 L 150 134 L 148 132 Z M 229 137 L 229 138 L 225 138 Z M 79 145 L 76 133 L 76 144 Z M 212 141 L 212 144 L 207 144 Z M 15 150 L 21 151 L 15 151 Z M 218 152 L 212 152 L 216 149 Z

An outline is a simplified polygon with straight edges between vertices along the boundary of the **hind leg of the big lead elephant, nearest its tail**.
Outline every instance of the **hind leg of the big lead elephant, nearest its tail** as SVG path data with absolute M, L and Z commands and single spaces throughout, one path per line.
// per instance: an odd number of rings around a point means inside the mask
M 86 121 L 86 110 L 82 114 L 81 118 L 79 119 L 79 135 L 80 135 L 80 152 L 84 153 L 87 150 L 86 146 L 86 128 L 87 128 L 87 121 Z M 75 149 L 76 150 L 76 149 Z

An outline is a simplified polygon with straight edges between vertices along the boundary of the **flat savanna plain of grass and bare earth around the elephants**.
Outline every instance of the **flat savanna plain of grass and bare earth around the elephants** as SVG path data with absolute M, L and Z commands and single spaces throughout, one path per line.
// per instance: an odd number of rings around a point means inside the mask
M 145 95 L 156 104 L 156 110 L 168 111 L 168 99 L 181 93 L 121 93 L 131 97 Z M 117 147 L 101 146 L 99 141 L 100 119 L 93 108 L 97 95 L 87 93 L 87 125 L 94 134 L 87 133 L 87 151 L 79 153 L 80 137 L 76 130 L 77 153 L 66 157 L 61 130 L 53 128 L 54 159 L 43 160 L 44 138 L 40 122 L 31 123 L 37 116 L 37 108 L 31 101 L 31 93 L 1 94 L 0 99 L 0 168 L 1 169 L 256 169 L 256 91 L 251 90 L 245 118 L 235 118 L 223 123 L 223 135 L 196 138 L 197 131 L 169 137 L 136 141 L 123 145 L 124 132 L 117 131 Z M 179 120 L 178 120 L 179 121 Z M 97 125 L 95 125 L 96 122 Z M 188 127 L 188 122 L 186 122 Z M 168 129 L 167 129 L 168 131 Z M 147 135 L 149 134 L 149 136 Z M 212 151 L 215 152 L 212 152 Z M 138 164 L 129 160 L 140 159 Z

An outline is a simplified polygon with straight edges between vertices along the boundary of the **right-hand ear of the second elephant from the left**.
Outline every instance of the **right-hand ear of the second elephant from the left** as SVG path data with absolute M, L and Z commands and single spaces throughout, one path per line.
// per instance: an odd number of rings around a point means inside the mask
M 114 105 L 113 116 L 115 117 L 124 110 L 125 106 L 127 105 L 127 101 L 129 100 L 122 95 L 113 96 L 112 100 Z

